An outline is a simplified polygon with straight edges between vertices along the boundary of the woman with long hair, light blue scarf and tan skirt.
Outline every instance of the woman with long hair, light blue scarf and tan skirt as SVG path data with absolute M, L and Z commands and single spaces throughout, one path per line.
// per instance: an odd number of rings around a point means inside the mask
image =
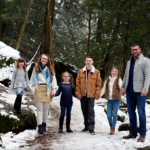
M 34 100 L 37 105 L 38 132 L 46 132 L 46 120 L 48 116 L 49 104 L 52 101 L 51 93 L 57 90 L 57 81 L 47 54 L 42 54 L 39 58 L 30 79 L 32 87 L 35 87 Z

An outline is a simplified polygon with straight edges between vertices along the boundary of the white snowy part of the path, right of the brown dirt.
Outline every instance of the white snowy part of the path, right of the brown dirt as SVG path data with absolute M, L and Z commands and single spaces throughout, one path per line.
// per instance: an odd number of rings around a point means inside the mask
M 97 102 L 97 101 L 96 101 Z M 59 104 L 59 98 L 55 98 L 53 103 Z M 150 106 L 147 105 L 147 110 Z M 147 115 L 150 111 L 147 111 Z M 53 142 L 50 148 L 54 150 L 133 150 L 140 147 L 150 146 L 150 118 L 147 118 L 147 138 L 144 143 L 137 143 L 137 139 L 124 140 L 122 137 L 128 134 L 128 131 L 118 132 L 120 121 L 117 122 L 116 132 L 109 135 L 109 125 L 104 108 L 95 105 L 96 125 L 95 135 L 89 132 L 81 132 L 83 129 L 83 116 L 80 108 L 80 102 L 74 99 L 72 108 L 71 128 L 73 133 L 64 133 L 58 142 Z M 128 116 L 127 116 L 128 118 Z M 126 121 L 127 122 L 127 121 Z

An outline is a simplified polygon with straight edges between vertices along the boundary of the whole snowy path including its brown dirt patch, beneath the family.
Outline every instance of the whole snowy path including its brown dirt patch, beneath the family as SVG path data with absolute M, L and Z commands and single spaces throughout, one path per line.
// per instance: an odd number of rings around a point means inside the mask
M 9 95 L 6 95 L 9 101 Z M 137 139 L 124 140 L 122 137 L 128 134 L 128 131 L 118 132 L 117 129 L 122 123 L 117 121 L 116 132 L 109 135 L 109 125 L 104 108 L 95 104 L 95 135 L 89 132 L 81 132 L 83 129 L 83 116 L 81 112 L 80 101 L 74 98 L 72 107 L 71 129 L 73 133 L 66 133 L 64 123 L 64 133 L 58 133 L 59 127 L 59 101 L 60 98 L 54 98 L 50 105 L 50 115 L 47 120 L 47 133 L 38 135 L 36 130 L 26 130 L 18 135 L 11 132 L 3 135 L 3 144 L 6 150 L 134 150 L 150 146 L 150 105 L 146 105 L 147 113 L 147 137 L 144 143 L 137 143 Z M 97 102 L 100 102 L 96 101 Z M 125 122 L 128 122 L 128 115 L 119 111 L 119 115 L 125 115 Z M 12 138 L 13 137 L 13 138 Z M 1 150 L 1 148 L 0 148 Z

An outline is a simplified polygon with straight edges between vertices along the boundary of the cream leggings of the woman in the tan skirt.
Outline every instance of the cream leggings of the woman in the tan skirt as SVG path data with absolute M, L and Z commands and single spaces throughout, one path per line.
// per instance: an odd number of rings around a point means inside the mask
M 50 102 L 36 102 L 37 106 L 37 125 L 46 123 Z

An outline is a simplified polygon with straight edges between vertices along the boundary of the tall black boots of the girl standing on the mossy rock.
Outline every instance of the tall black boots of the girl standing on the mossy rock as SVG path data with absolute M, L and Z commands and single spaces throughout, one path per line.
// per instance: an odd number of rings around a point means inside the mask
M 14 109 L 17 111 L 18 114 L 22 114 L 21 101 L 22 101 L 22 95 L 18 94 L 15 100 L 15 104 L 14 104 Z

